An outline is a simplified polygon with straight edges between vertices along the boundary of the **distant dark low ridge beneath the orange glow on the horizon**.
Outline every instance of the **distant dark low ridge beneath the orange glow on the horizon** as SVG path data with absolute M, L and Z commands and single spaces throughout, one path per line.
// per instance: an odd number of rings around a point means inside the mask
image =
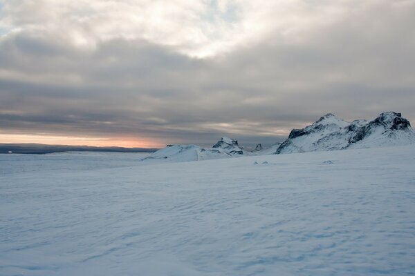
M 96 146 L 66 146 L 44 144 L 0 144 L 0 153 L 22 153 L 44 155 L 53 152 L 89 151 L 89 152 L 155 152 L 158 148 L 122 148 Z

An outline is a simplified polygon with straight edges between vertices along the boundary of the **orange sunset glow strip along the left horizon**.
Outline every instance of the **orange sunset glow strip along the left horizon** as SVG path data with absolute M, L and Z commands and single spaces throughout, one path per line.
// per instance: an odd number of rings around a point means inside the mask
M 161 143 L 131 137 L 71 137 L 55 135 L 1 134 L 0 144 L 46 144 L 67 146 L 120 146 L 124 148 L 161 148 Z

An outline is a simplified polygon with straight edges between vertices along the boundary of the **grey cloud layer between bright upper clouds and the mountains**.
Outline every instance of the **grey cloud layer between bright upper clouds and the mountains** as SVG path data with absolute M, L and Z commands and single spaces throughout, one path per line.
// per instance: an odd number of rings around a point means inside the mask
M 76 48 L 32 32 L 0 39 L 0 131 L 272 144 L 326 112 L 415 120 L 415 3 L 385 1 L 308 30 L 193 59 L 143 39 Z M 226 133 L 225 133 L 226 132 Z

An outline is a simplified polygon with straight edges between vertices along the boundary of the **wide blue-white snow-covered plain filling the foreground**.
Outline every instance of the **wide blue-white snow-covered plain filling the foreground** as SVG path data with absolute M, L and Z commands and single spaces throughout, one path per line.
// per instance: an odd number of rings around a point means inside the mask
M 0 155 L 0 275 L 415 274 L 414 145 L 135 155 Z

